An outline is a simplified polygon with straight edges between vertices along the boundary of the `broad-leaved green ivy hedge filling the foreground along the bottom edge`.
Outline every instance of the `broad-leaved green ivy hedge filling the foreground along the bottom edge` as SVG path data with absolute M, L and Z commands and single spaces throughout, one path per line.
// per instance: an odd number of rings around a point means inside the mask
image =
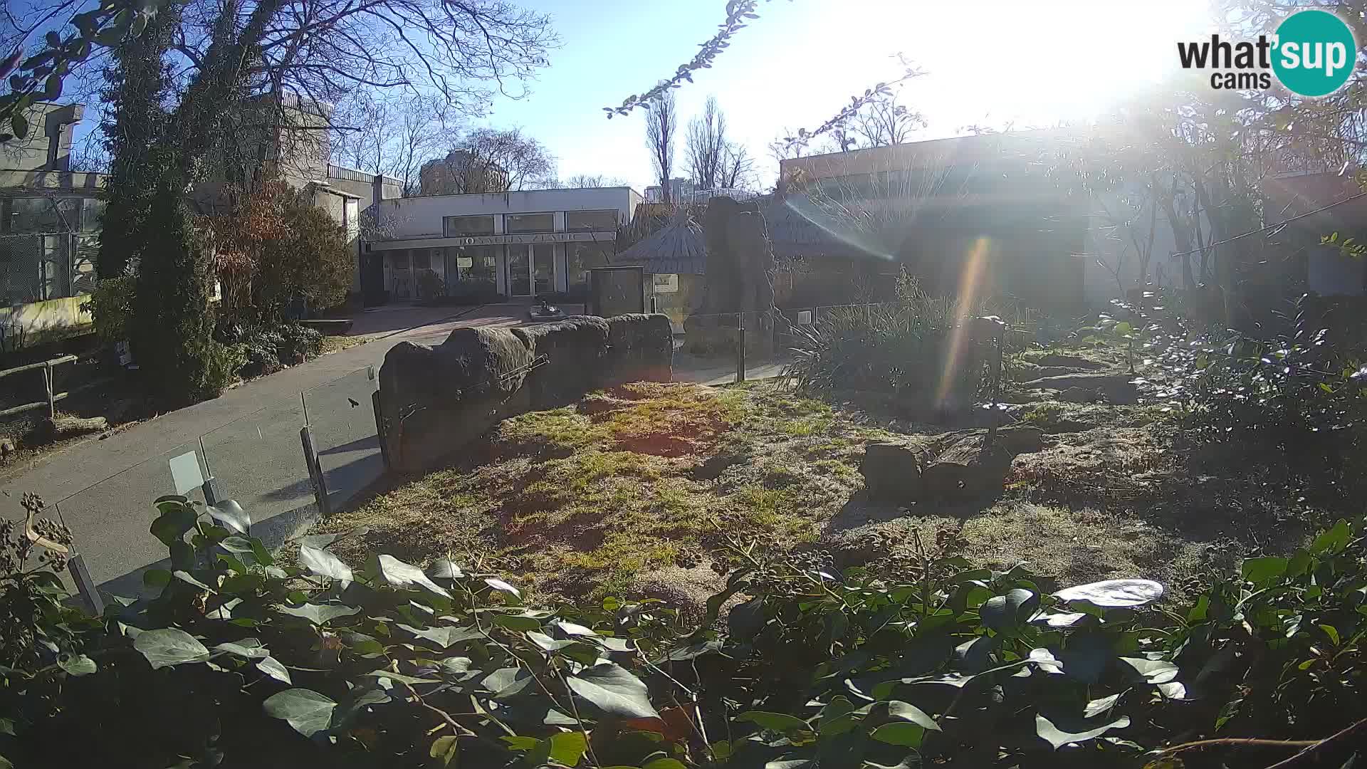
M 236 504 L 179 497 L 150 525 L 160 594 L 89 618 L 15 527 L 0 755 L 21 769 L 1137 768 L 1173 739 L 1319 739 L 1367 716 L 1367 551 L 1346 521 L 1184 606 L 1141 580 L 1048 592 L 951 539 L 891 580 L 735 549 L 693 631 L 655 601 L 528 606 L 450 560 L 350 568 L 338 535 L 287 565 Z

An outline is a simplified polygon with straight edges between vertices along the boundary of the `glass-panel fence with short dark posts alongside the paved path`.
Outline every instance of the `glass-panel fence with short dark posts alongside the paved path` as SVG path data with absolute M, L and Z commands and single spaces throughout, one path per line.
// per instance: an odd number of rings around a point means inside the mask
M 71 528 L 90 586 L 142 592 L 141 575 L 164 565 L 148 531 L 165 494 L 235 499 L 268 546 L 339 510 L 384 475 L 372 394 L 375 368 L 353 371 L 211 430 L 49 505 Z M 77 584 L 77 587 L 82 587 Z

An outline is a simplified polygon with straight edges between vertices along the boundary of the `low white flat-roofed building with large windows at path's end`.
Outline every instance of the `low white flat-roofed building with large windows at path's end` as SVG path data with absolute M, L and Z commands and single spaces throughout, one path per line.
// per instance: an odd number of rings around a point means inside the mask
M 630 187 L 385 200 L 364 249 L 380 257 L 391 300 L 425 298 L 435 285 L 448 296 L 581 294 L 588 270 L 611 263 L 638 203 Z

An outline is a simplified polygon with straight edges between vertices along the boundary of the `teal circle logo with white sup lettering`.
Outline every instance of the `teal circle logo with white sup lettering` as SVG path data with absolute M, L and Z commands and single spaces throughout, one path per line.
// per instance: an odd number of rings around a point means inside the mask
M 1348 82 L 1357 64 L 1353 31 L 1329 11 L 1300 11 L 1277 27 L 1273 71 L 1292 93 L 1326 96 Z

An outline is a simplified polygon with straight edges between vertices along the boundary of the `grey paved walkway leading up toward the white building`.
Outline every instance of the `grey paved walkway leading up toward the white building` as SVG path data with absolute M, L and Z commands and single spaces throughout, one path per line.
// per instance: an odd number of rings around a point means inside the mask
M 299 428 L 309 424 L 328 497 L 336 506 L 380 478 L 383 462 L 370 393 L 394 345 L 436 345 L 463 326 L 515 326 L 526 305 L 480 308 L 387 307 L 355 319 L 366 343 L 331 353 L 234 387 L 221 397 L 170 412 L 64 452 L 0 479 L 0 514 L 19 517 L 19 497 L 34 491 L 75 534 L 92 577 L 107 591 L 137 592 L 141 572 L 165 549 L 149 532 L 152 501 L 176 493 L 172 457 L 194 452 L 220 498 L 236 499 L 256 521 L 254 534 L 283 539 L 313 502 Z M 776 364 L 755 364 L 749 378 L 774 376 Z M 675 380 L 722 384 L 734 363 L 679 354 Z M 202 499 L 200 493 L 189 493 Z

